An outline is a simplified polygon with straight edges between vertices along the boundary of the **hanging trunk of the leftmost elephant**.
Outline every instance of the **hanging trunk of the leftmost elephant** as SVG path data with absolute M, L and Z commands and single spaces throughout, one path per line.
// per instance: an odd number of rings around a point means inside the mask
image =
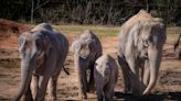
M 29 61 L 21 61 L 21 85 L 14 101 L 20 101 L 28 90 L 32 78 L 32 65 Z

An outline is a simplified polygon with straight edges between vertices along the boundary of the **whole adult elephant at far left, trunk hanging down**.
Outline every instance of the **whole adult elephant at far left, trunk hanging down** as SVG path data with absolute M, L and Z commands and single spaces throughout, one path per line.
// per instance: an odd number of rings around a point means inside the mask
M 47 23 L 41 23 L 19 37 L 21 55 L 21 86 L 14 101 L 24 96 L 33 101 L 30 83 L 32 80 L 34 101 L 44 101 L 49 85 L 49 99 L 56 99 L 56 83 L 68 52 L 68 42 Z

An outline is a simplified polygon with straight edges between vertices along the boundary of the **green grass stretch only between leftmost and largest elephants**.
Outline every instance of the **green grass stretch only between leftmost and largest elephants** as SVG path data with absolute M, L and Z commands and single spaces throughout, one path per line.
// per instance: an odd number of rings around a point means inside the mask
M 55 29 L 64 34 L 82 34 L 85 30 L 93 31 L 96 35 L 118 35 L 118 26 L 99 25 L 55 25 Z

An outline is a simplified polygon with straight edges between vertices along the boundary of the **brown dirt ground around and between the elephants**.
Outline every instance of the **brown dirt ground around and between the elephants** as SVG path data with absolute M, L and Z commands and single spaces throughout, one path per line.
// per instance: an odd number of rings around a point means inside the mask
M 159 80 L 147 98 L 134 98 L 131 94 L 123 93 L 123 77 L 119 68 L 118 82 L 115 89 L 116 101 L 181 101 L 181 60 L 175 58 L 173 43 L 175 34 L 167 35 L 163 48 L 163 58 L 160 67 Z M 72 42 L 72 36 L 67 36 Z M 104 53 L 117 58 L 117 36 L 99 36 Z M 12 41 L 13 40 L 13 41 Z M 20 58 L 17 48 L 17 38 L 12 36 L 11 43 L 0 40 L 0 101 L 11 101 L 20 86 Z M 4 45 L 6 44 L 6 45 Z M 6 47 L 4 47 L 6 46 Z M 73 65 L 73 55 L 70 52 L 65 61 L 65 68 L 70 71 L 67 76 L 61 72 L 57 83 L 57 101 L 78 100 L 77 74 Z M 96 101 L 95 93 L 88 93 L 86 101 Z

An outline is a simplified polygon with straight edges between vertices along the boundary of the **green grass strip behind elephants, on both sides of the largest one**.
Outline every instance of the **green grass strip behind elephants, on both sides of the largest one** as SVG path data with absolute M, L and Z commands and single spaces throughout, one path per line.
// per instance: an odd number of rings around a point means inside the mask
M 32 26 L 35 26 L 34 24 Z M 85 30 L 93 31 L 96 35 L 118 35 L 120 26 L 104 26 L 104 25 L 54 25 L 54 27 L 63 34 L 82 34 Z M 167 27 L 167 34 L 180 34 L 181 27 L 169 26 Z

